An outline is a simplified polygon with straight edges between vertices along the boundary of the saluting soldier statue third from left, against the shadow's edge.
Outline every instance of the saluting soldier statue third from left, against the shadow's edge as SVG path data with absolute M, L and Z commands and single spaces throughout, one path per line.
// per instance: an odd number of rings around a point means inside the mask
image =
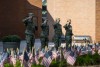
M 62 25 L 60 24 L 60 18 L 56 19 L 54 27 L 54 37 L 53 41 L 55 43 L 56 50 L 58 50 L 58 47 L 61 45 L 61 36 L 62 36 Z

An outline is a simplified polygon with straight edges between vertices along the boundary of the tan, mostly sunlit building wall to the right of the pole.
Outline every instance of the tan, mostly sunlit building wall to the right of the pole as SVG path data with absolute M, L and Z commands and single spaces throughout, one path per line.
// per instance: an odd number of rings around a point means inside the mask
M 73 34 L 91 36 L 93 42 L 100 41 L 100 0 L 47 0 L 47 17 L 52 39 L 54 30 L 52 24 L 56 18 L 61 19 L 63 26 L 68 19 L 72 20 Z

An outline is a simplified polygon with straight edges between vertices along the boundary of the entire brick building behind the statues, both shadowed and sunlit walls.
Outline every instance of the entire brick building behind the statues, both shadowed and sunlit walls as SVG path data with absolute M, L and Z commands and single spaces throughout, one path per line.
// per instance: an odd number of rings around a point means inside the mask
M 52 24 L 56 18 L 60 18 L 63 34 L 65 34 L 63 26 L 67 19 L 71 19 L 74 35 L 89 35 L 93 41 L 100 41 L 100 0 L 47 0 L 46 2 L 50 40 L 54 35 Z M 1 0 L 0 38 L 8 34 L 18 34 L 24 38 L 25 28 L 22 19 L 28 12 L 33 12 L 37 17 L 36 36 L 39 37 L 42 22 L 42 0 Z

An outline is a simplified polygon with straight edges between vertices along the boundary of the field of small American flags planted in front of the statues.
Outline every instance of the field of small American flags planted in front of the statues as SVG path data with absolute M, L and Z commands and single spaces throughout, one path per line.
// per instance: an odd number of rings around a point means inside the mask
M 7 49 L 6 52 L 1 54 L 0 67 L 4 67 L 5 62 L 13 64 L 15 67 L 17 60 L 21 63 L 20 67 L 31 67 L 32 64 L 50 67 L 53 60 L 66 60 L 67 64 L 73 66 L 77 57 L 88 53 L 93 55 L 96 52 L 100 55 L 100 45 L 72 46 L 71 51 L 61 47 L 59 47 L 58 50 L 46 47 L 44 49 L 38 49 L 34 52 L 35 54 L 33 54 L 33 51 L 27 52 L 26 49 L 22 53 L 19 52 L 19 49 L 16 51 L 13 49 Z

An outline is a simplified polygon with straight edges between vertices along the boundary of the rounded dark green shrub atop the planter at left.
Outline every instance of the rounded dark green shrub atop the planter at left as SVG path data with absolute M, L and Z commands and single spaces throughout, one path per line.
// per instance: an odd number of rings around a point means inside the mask
M 3 42 L 20 42 L 20 37 L 18 35 L 8 35 L 2 38 Z

